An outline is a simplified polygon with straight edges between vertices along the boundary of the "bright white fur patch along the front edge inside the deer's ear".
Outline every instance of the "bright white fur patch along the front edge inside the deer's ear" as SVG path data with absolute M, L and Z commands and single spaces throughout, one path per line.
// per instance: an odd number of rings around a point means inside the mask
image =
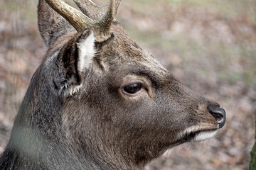
M 85 68 L 89 67 L 92 58 L 95 55 L 95 35 L 91 31 L 90 35 L 82 42 L 78 43 L 79 48 L 79 63 L 78 69 L 82 72 Z

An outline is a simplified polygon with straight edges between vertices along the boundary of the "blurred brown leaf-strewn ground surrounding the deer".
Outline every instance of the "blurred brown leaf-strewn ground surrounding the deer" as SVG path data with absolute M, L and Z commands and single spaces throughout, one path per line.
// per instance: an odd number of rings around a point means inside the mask
M 37 2 L 0 1 L 0 153 L 46 53 Z M 117 19 L 174 77 L 227 113 L 215 138 L 170 149 L 146 170 L 247 169 L 256 114 L 256 1 L 129 0 Z

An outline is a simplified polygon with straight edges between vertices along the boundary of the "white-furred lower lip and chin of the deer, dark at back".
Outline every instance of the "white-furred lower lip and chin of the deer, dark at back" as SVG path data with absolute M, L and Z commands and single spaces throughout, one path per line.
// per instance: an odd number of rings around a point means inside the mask
M 199 130 L 196 132 L 189 132 L 184 135 L 183 140 L 186 142 L 201 142 L 203 140 L 208 140 L 210 137 L 216 135 L 217 130 Z

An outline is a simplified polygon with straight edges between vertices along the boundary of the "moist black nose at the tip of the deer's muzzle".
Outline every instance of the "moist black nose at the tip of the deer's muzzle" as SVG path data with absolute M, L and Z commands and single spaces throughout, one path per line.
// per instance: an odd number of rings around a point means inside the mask
M 209 112 L 218 123 L 218 128 L 223 128 L 225 124 L 225 110 L 223 107 L 210 108 Z

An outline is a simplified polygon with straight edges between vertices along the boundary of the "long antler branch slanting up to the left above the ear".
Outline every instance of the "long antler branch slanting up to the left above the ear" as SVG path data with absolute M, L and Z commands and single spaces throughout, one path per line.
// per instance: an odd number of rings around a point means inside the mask
M 92 28 L 95 24 L 77 9 L 65 4 L 63 0 L 46 0 L 47 4 L 65 18 L 76 30 L 82 31 L 85 28 Z

